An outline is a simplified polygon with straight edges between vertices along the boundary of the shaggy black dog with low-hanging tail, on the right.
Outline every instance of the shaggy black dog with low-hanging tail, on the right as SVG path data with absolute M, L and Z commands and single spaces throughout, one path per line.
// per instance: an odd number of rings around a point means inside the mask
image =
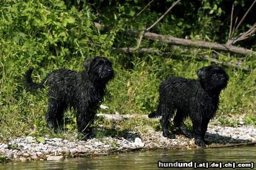
M 160 84 L 159 105 L 156 112 L 148 117 L 162 116 L 160 122 L 163 135 L 175 138 L 169 131 L 170 118 L 174 116 L 174 125 L 180 133 L 189 136 L 183 127 L 183 120 L 190 117 L 193 124 L 196 145 L 205 147 L 204 135 L 209 120 L 218 109 L 219 95 L 227 83 L 229 76 L 218 66 L 207 66 L 197 71 L 198 79 L 170 77 Z

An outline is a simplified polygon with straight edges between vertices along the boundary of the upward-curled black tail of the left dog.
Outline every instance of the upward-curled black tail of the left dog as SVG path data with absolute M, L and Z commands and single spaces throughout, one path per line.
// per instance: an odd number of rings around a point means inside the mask
M 24 85 L 27 88 L 30 88 L 31 90 L 37 90 L 37 89 L 43 89 L 44 88 L 44 84 L 42 83 L 35 83 L 32 80 L 32 72 L 34 71 L 34 69 L 30 68 L 27 70 L 26 74 L 24 74 Z

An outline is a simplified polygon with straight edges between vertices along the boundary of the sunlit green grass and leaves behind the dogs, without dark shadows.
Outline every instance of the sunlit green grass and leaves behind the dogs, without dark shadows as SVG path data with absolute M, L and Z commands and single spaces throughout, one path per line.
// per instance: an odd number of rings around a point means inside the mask
M 77 11 L 75 7 L 67 10 L 63 1 L 58 2 L 61 3 L 51 1 L 41 4 L 34 1 L 19 1 L 15 5 L 9 5 L 6 2 L 2 5 L 4 8 L 0 8 L 3 12 L 0 18 L 0 134 L 3 136 L 1 141 L 27 135 L 80 138 L 76 130 L 76 116 L 73 110 L 65 113 L 64 132 L 55 134 L 47 128 L 44 118 L 47 112 L 47 90 L 31 93 L 24 88 L 23 74 L 28 67 L 35 68 L 32 78 L 40 82 L 52 70 L 66 67 L 79 71 L 83 69 L 82 61 L 85 58 L 107 56 L 113 62 L 115 78 L 108 84 L 108 90 L 102 101 L 102 104 L 110 109 L 100 112 L 148 114 L 154 111 L 158 104 L 158 87 L 162 80 L 168 76 L 196 78 L 196 71 L 200 67 L 210 65 L 209 62 L 196 60 L 197 49 L 189 49 L 185 52 L 182 48 L 180 51 L 174 50 L 172 55 L 180 59 L 164 58 L 156 54 L 140 56 L 137 53 L 127 55 L 114 53 L 111 49 L 113 44 L 135 45 L 133 37 L 120 36 L 117 33 L 118 29 L 127 28 L 125 20 L 128 19 L 124 18 L 125 15 L 122 17 L 121 13 L 117 15 L 119 22 L 109 20 L 108 22 L 114 23 L 113 30 L 101 34 L 93 27 L 93 19 L 97 20 L 97 17 L 92 14 L 88 6 L 85 5 L 83 11 Z M 59 5 L 55 6 L 55 4 Z M 19 12 L 18 9 L 26 10 Z M 46 11 L 42 12 L 42 10 Z M 26 13 L 27 11 L 32 11 L 35 15 L 31 15 L 31 12 Z M 146 19 L 151 19 L 154 23 L 156 18 L 158 15 L 154 13 L 148 15 Z M 137 23 L 138 20 L 135 21 L 135 24 Z M 183 36 L 183 31 L 179 32 L 181 29 L 179 27 L 170 27 L 167 22 L 159 25 L 156 25 L 155 31 Z M 143 23 L 139 24 L 139 27 L 141 26 Z M 197 35 L 197 39 L 204 38 Z M 147 40 L 142 41 L 142 46 L 163 50 L 168 48 L 167 44 Z M 203 50 L 203 52 L 213 57 L 211 50 Z M 226 61 L 232 58 L 228 54 L 220 59 Z M 245 117 L 245 124 L 255 125 L 255 62 L 253 57 L 243 57 L 243 65 L 253 69 L 249 73 L 226 68 L 230 80 L 228 87 L 221 92 L 217 117 L 229 114 L 239 117 L 241 114 L 246 114 L 248 116 Z M 151 125 L 159 129 L 159 123 L 139 119 L 126 120 L 118 125 L 109 121 L 100 120 L 100 122 L 109 127 L 114 135 L 125 133 L 125 129 L 134 129 L 134 126 Z M 228 122 L 224 121 L 223 124 Z M 98 125 L 96 121 L 94 126 Z M 98 138 L 106 135 L 101 129 L 97 133 Z

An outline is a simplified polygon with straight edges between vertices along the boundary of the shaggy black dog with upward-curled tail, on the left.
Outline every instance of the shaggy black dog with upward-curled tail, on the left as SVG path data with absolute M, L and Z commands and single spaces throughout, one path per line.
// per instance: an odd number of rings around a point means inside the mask
M 48 90 L 48 112 L 46 120 L 50 128 L 57 131 L 63 125 L 64 111 L 76 109 L 78 131 L 90 134 L 88 127 L 93 122 L 95 110 L 102 100 L 109 80 L 113 79 L 112 62 L 105 57 L 94 57 L 84 61 L 85 70 L 76 72 L 68 69 L 52 71 L 42 83 L 34 83 L 32 69 L 24 75 L 25 85 L 32 90 Z

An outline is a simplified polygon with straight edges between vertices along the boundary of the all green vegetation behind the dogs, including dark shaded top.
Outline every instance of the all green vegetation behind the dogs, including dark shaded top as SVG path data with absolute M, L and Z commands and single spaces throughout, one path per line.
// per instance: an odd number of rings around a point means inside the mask
M 136 37 L 125 32 L 128 28 L 147 28 L 174 1 L 154 1 L 141 15 L 138 12 L 146 5 L 144 1 L 0 1 L 0 133 L 3 139 L 14 136 L 34 135 L 40 137 L 83 138 L 76 130 L 75 111 L 65 113 L 64 132 L 53 133 L 48 129 L 44 115 L 47 112 L 47 90 L 34 94 L 23 87 L 23 74 L 28 67 L 36 70 L 32 78 L 41 81 L 52 70 L 66 67 L 82 70 L 82 61 L 93 56 L 106 56 L 113 61 L 115 78 L 108 85 L 103 101 L 110 109 L 106 113 L 147 114 L 158 104 L 158 87 L 168 76 L 196 78 L 196 70 L 209 62 L 199 62 L 201 55 L 213 57 L 211 50 L 189 49 L 189 53 L 175 50 L 162 42 L 143 40 L 141 47 L 170 50 L 170 56 L 179 60 L 163 58 L 161 55 L 115 53 L 112 47 L 136 46 Z M 238 1 L 235 1 L 238 2 Z M 236 3 L 236 8 L 245 8 L 247 0 Z M 230 4 L 229 4 L 230 6 Z M 227 12 L 227 10 L 229 10 Z M 243 11 L 243 10 L 242 10 Z M 226 42 L 229 32 L 230 9 L 222 0 L 186 1 L 175 6 L 164 19 L 152 28 L 152 32 L 194 40 Z M 254 16 L 249 12 L 248 17 Z M 254 18 L 251 18 L 253 20 Z M 241 25 L 240 32 L 247 25 Z M 109 27 L 100 32 L 93 22 Z M 255 50 L 255 40 L 243 45 Z M 241 43 L 242 44 L 242 43 Z M 254 46 L 253 46 L 254 45 Z M 188 50 L 187 50 L 188 51 Z M 220 57 L 221 61 L 240 61 L 240 56 Z M 219 115 L 249 113 L 246 124 L 255 125 L 255 59 L 242 58 L 243 65 L 253 69 L 249 73 L 226 68 L 230 75 L 228 87 L 221 94 Z M 103 112 L 103 111 L 100 111 Z M 99 120 L 108 126 L 110 135 L 125 131 L 115 129 L 113 122 Z M 117 126 L 133 129 L 135 126 L 151 124 L 155 129 L 159 123 L 147 120 L 126 120 Z M 225 123 L 224 124 L 228 124 Z M 98 130 L 98 138 L 105 135 Z M 114 145 L 114 144 L 113 144 Z

